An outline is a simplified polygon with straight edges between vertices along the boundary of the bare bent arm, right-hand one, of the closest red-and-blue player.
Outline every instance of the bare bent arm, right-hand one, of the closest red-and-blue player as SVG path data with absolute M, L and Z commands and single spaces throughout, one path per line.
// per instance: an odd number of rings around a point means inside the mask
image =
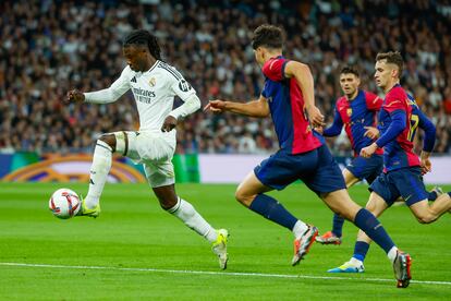
M 297 85 L 301 87 L 305 101 L 305 109 L 307 110 L 308 119 L 312 124 L 314 127 L 324 125 L 325 117 L 315 106 L 314 80 L 308 65 L 296 61 L 289 61 L 285 64 L 284 75 L 285 77 L 296 79 Z

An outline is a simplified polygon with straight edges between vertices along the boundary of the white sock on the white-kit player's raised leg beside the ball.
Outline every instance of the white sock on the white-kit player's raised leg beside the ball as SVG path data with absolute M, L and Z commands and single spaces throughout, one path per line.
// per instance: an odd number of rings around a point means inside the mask
M 108 143 L 98 140 L 94 149 L 93 164 L 90 166 L 89 191 L 85 197 L 86 207 L 92 209 L 99 203 L 108 172 L 110 172 L 112 149 Z

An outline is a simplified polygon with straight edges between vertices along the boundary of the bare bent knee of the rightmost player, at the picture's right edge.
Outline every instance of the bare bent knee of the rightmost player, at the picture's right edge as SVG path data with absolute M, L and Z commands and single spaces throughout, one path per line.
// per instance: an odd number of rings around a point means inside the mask
M 430 224 L 451 210 L 451 197 L 448 193 L 443 193 L 430 205 L 428 200 L 424 200 L 411 205 L 410 208 L 420 224 Z

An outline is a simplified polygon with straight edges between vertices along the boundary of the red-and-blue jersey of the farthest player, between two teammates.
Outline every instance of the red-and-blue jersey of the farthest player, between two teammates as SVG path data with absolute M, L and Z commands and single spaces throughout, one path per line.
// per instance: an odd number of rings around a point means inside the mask
M 357 96 L 349 100 L 345 96 L 337 100 L 333 123 L 324 131 L 325 136 L 337 136 L 344 131 L 351 142 L 354 156 L 358 156 L 361 149 L 373 143 L 365 136 L 365 127 L 376 127 L 376 116 L 382 106 L 382 99 L 376 94 L 358 91 Z M 381 155 L 383 150 L 378 148 L 376 154 Z

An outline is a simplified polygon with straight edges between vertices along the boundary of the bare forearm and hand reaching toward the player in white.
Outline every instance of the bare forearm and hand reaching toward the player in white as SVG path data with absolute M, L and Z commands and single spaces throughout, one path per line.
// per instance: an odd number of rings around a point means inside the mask
M 268 100 L 260 95 L 260 98 L 257 100 L 252 100 L 248 103 L 236 103 L 236 101 L 226 101 L 226 100 L 210 100 L 207 106 L 205 106 L 204 111 L 211 111 L 215 113 L 220 113 L 224 111 L 230 111 L 234 113 L 245 115 L 249 117 L 264 118 L 269 116 L 269 105 Z

